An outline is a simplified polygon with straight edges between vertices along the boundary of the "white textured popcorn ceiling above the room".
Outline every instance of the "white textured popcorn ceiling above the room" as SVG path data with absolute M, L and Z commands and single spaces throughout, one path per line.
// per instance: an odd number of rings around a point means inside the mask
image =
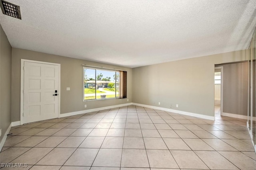
M 255 0 L 7 0 L 12 47 L 138 67 L 248 48 Z

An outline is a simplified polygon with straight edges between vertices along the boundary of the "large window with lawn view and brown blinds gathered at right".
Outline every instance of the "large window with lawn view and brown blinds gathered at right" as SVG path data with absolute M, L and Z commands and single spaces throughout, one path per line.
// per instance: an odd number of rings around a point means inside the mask
M 84 100 L 126 98 L 127 72 L 83 67 Z

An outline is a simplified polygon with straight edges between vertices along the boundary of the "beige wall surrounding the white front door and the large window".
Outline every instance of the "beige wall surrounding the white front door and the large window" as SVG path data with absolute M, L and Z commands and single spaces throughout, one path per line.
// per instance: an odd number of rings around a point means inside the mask
M 98 107 L 126 104 L 127 99 L 108 99 L 83 102 L 82 64 L 127 70 L 127 98 L 132 102 L 132 68 L 96 63 L 69 57 L 50 55 L 24 49 L 12 48 L 12 121 L 20 121 L 20 60 L 28 59 L 61 64 L 60 113 L 70 113 Z M 66 88 L 70 87 L 70 91 Z M 84 108 L 84 105 L 87 105 Z

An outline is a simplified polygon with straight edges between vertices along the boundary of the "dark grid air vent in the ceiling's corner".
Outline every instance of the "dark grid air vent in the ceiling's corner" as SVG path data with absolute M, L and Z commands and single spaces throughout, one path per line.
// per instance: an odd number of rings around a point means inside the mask
M 20 6 L 14 5 L 10 2 L 6 2 L 4 0 L 1 0 L 1 8 L 2 8 L 2 12 L 5 15 L 14 17 L 14 18 L 18 18 L 21 20 L 21 16 L 20 16 Z

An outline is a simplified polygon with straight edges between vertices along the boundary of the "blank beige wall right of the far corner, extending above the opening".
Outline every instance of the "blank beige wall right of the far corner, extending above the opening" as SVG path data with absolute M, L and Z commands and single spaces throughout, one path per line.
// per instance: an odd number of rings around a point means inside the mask
M 245 60 L 242 50 L 134 68 L 133 102 L 214 116 L 214 64 Z

